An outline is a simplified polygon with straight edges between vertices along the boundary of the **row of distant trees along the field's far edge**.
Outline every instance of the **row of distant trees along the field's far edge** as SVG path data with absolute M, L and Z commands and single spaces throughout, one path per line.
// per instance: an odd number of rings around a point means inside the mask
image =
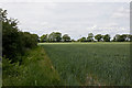
M 92 33 L 89 33 L 87 37 L 78 38 L 77 41 L 72 40 L 68 34 L 64 34 L 59 32 L 52 32 L 51 34 L 43 34 L 40 37 L 40 42 L 132 42 L 131 34 L 116 34 L 113 40 L 111 40 L 110 34 L 101 35 L 97 34 L 94 36 Z

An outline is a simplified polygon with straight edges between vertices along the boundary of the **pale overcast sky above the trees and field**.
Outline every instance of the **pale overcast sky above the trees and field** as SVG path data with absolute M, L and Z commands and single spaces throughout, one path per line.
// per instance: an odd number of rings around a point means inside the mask
M 111 37 L 129 34 L 130 3 L 125 1 L 2 0 L 0 8 L 8 10 L 9 18 L 20 21 L 18 26 L 21 31 L 40 36 L 61 32 L 77 40 L 87 37 L 88 33 L 110 34 Z

